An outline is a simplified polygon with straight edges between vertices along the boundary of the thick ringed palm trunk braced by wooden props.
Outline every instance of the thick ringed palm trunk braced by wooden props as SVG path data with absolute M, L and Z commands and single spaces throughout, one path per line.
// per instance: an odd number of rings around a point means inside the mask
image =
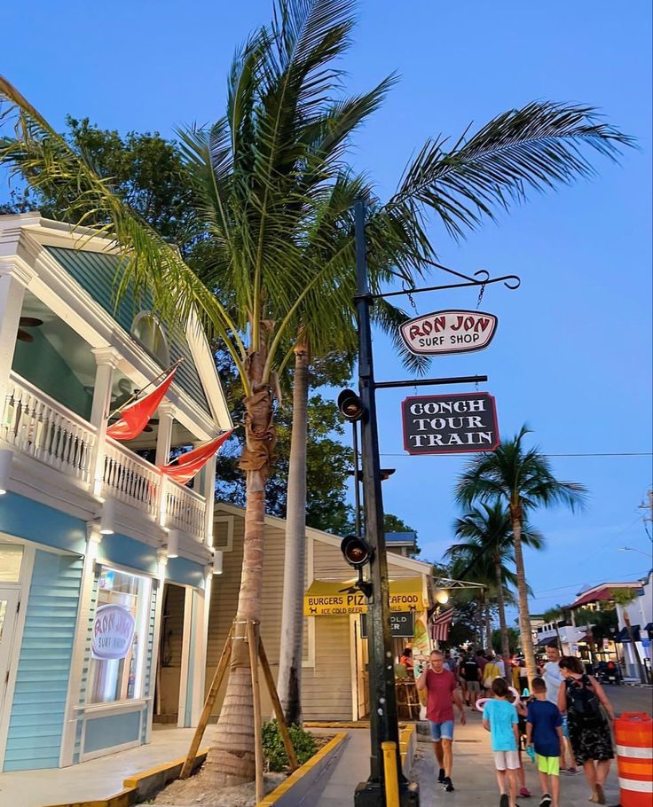
M 275 434 L 272 391 L 263 383 L 265 349 L 249 357 L 252 395 L 245 398 L 246 447 L 240 468 L 247 474 L 247 505 L 238 609 L 233 622 L 232 658 L 215 739 L 205 764 L 213 787 L 244 784 L 255 777 L 254 709 L 247 645 L 247 624 L 260 622 L 263 592 L 265 482 Z

